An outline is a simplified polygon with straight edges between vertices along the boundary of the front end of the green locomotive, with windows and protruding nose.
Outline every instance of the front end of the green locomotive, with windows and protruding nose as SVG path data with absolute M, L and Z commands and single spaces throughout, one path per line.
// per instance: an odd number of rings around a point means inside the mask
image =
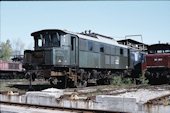
M 70 65 L 69 46 L 66 33 L 57 30 L 43 30 L 31 34 L 34 50 L 24 51 L 24 67 L 35 77 L 49 79 L 51 75 L 62 75 L 63 67 Z

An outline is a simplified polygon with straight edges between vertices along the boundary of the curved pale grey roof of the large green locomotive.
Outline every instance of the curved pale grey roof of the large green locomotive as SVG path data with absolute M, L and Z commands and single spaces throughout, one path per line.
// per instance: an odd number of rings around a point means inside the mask
M 45 30 L 41 30 L 41 31 L 37 31 L 37 32 L 33 32 L 31 34 L 31 36 L 35 36 L 38 35 L 40 33 L 44 33 L 44 32 L 61 32 L 61 33 L 68 33 L 68 34 L 73 34 L 78 36 L 79 38 L 82 39 L 86 39 L 86 40 L 92 40 L 92 41 L 96 41 L 96 42 L 101 42 L 101 43 L 105 43 L 105 44 L 110 44 L 110 45 L 115 45 L 115 46 L 120 46 L 120 47 L 124 47 L 124 48 L 128 48 L 125 45 L 121 45 L 119 44 L 114 38 L 112 37 L 108 37 L 108 36 L 104 36 L 98 33 L 92 33 L 95 35 L 95 37 L 93 36 L 89 36 L 87 34 L 82 34 L 82 33 L 75 33 L 75 32 L 70 32 L 67 30 L 59 30 L 59 29 L 45 29 Z

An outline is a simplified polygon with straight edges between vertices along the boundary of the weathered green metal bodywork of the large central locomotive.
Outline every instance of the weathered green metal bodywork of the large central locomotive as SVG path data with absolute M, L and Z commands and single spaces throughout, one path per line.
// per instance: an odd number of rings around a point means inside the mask
M 36 33 L 32 36 L 37 40 L 36 36 L 41 33 L 42 32 Z M 38 42 L 35 42 L 35 44 L 36 43 Z M 91 45 L 92 48 L 90 48 Z M 103 48 L 101 48 L 101 46 Z M 133 64 L 130 59 L 128 60 L 129 55 L 127 48 L 85 40 L 69 33 L 60 35 L 60 46 L 40 48 L 35 45 L 35 51 L 32 51 L 32 53 L 36 53 L 37 51 L 43 52 L 42 57 L 44 58 L 41 58 L 41 60 L 44 61 L 35 63 L 35 65 L 41 64 L 53 67 L 77 66 L 79 68 L 94 69 L 127 69 L 128 67 L 132 67 Z M 32 59 L 34 59 L 34 56 L 32 56 Z M 35 60 L 38 62 L 40 59 L 35 58 Z M 27 59 L 24 62 L 33 63 L 30 59 Z

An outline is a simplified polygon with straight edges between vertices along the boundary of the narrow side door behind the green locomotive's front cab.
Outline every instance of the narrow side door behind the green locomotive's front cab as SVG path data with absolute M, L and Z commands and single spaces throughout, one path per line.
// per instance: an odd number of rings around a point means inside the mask
M 70 65 L 78 65 L 78 37 L 71 36 Z

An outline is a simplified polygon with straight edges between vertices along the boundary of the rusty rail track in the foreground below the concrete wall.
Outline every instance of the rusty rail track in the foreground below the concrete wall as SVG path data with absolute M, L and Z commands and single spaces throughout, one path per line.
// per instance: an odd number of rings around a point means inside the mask
M 78 109 L 78 108 L 68 108 L 68 107 L 52 107 L 45 105 L 32 105 L 32 104 L 23 104 L 23 103 L 14 103 L 14 102 L 3 102 L 0 101 L 0 104 L 18 106 L 18 107 L 28 107 L 28 108 L 40 108 L 46 110 L 59 110 L 59 111 L 68 111 L 68 112 L 77 112 L 77 113 L 127 113 L 127 112 L 113 112 L 105 110 L 95 110 L 95 109 Z

